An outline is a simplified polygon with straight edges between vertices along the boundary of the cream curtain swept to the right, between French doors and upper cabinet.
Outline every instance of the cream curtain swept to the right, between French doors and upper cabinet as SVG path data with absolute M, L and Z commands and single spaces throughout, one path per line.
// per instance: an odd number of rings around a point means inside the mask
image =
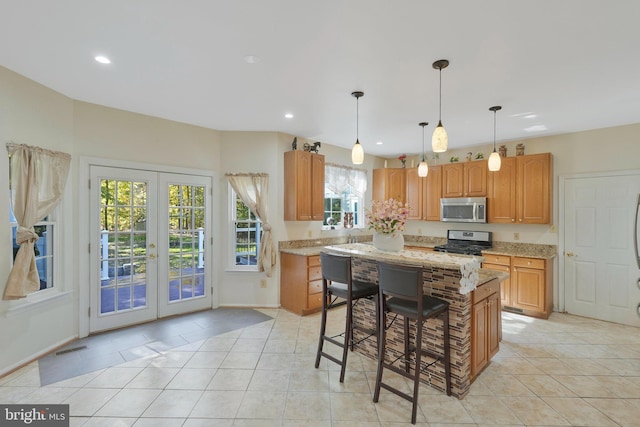
M 276 250 L 271 237 L 271 224 L 268 219 L 269 175 L 266 173 L 226 174 L 231 187 L 251 212 L 262 222 L 262 238 L 258 252 L 258 271 L 264 271 L 271 277 L 276 265 Z

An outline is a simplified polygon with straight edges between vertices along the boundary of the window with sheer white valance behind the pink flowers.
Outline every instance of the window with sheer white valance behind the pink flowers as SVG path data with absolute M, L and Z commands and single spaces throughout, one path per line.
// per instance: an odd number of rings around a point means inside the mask
M 364 194 L 367 191 L 367 173 L 346 166 L 326 164 L 324 186 L 323 228 L 342 228 L 345 213 L 353 214 L 353 226 L 364 227 Z

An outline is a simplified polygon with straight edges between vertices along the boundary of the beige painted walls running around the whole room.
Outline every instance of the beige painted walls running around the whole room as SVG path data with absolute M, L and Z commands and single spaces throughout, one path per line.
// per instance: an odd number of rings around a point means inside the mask
M 237 273 L 224 269 L 227 260 L 228 207 L 225 172 L 267 172 L 270 176 L 270 218 L 274 240 L 305 239 L 331 235 L 321 232 L 320 222 L 294 222 L 282 220 L 284 194 L 283 153 L 291 149 L 291 135 L 273 132 L 222 132 L 185 125 L 140 114 L 115 110 L 94 104 L 73 101 L 36 82 L 0 67 L 0 136 L 4 141 L 38 145 L 72 154 L 69 191 L 64 200 L 64 226 L 66 253 L 63 288 L 70 295 L 31 306 L 31 309 L 13 310 L 24 302 L 0 302 L 0 340 L 12 343 L 0 352 L 0 374 L 30 358 L 50 350 L 78 333 L 79 283 L 74 260 L 77 259 L 76 242 L 86 236 L 74 228 L 84 207 L 75 196 L 78 183 L 80 156 L 104 157 L 115 160 L 136 161 L 169 167 L 196 168 L 213 171 L 217 176 L 214 188 L 214 257 L 220 266 L 214 276 L 221 305 L 276 306 L 279 302 L 279 268 L 267 279 L 267 288 L 260 288 L 262 273 Z M 554 218 L 557 223 L 558 175 L 639 169 L 640 124 L 600 129 L 544 138 L 513 141 L 506 145 L 509 155 L 515 153 L 515 144 L 524 142 L 526 153 L 552 152 L 554 155 Z M 298 138 L 299 147 L 304 139 Z M 177 147 L 177 148 L 176 148 Z M 604 149 L 602 148 L 604 147 Z M 365 153 L 367 147 L 365 146 Z M 464 158 L 467 151 L 491 151 L 490 145 L 459 150 Z M 324 143 L 320 152 L 326 161 L 350 165 L 350 150 Z M 448 154 L 448 156 L 454 153 Z M 417 156 L 416 156 L 417 158 Z M 224 159 L 224 161 L 223 161 Z M 392 159 L 395 160 L 395 159 Z M 444 159 L 441 160 L 441 162 Z M 393 166 L 390 161 L 389 166 Z M 365 154 L 368 170 L 382 167 L 383 159 Z M 0 189 L 8 188 L 7 158 L 0 155 Z M 72 191 L 73 190 L 73 191 Z M 367 205 L 370 202 L 370 192 Z M 8 202 L 0 198 L 0 224 L 8 222 Z M 558 233 L 550 226 L 484 225 L 494 231 L 496 240 L 513 240 L 519 232 L 520 241 L 557 244 Z M 407 232 L 411 234 L 445 236 L 446 225 L 411 221 Z M 476 228 L 476 227 L 474 227 Z M 335 232 L 334 232 L 335 233 Z M 0 227 L 0 243 L 8 248 L 11 236 L 8 227 Z M 7 253 L 3 251 L 2 253 Z M 71 259 L 73 258 L 73 259 Z M 9 273 L 10 260 L 0 260 L 0 290 Z

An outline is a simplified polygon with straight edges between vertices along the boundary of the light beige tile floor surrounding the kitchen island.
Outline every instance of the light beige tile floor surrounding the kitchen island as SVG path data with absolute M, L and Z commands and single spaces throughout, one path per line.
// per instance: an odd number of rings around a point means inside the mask
M 372 402 L 374 361 L 351 353 L 343 384 L 337 365 L 314 369 L 319 315 L 260 311 L 272 320 L 45 386 L 34 362 L 0 379 L 0 401 L 69 403 L 72 426 L 410 425 L 409 402 L 384 390 Z M 417 425 L 639 426 L 640 329 L 504 313 L 500 352 L 470 394 L 423 386 Z

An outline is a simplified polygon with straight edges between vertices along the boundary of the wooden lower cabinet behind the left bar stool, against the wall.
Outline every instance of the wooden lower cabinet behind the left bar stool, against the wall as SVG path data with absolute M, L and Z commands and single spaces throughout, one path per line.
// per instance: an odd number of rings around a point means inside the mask
M 319 255 L 280 253 L 280 305 L 301 316 L 322 309 Z

